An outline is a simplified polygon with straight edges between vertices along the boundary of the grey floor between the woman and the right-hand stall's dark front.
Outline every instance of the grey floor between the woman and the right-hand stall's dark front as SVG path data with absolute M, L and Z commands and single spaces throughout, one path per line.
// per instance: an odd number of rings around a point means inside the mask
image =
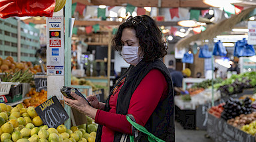
M 210 138 L 205 138 L 206 131 L 195 129 L 183 129 L 175 122 L 175 141 L 176 142 L 214 142 Z

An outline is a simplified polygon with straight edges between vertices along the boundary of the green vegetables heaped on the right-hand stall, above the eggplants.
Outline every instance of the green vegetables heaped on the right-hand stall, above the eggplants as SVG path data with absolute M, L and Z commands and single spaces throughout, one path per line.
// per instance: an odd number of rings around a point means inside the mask
M 243 89 L 253 88 L 256 85 L 256 72 L 247 72 L 239 75 L 232 75 L 229 79 L 215 84 L 215 89 L 221 91 L 221 94 L 229 96 L 243 92 Z

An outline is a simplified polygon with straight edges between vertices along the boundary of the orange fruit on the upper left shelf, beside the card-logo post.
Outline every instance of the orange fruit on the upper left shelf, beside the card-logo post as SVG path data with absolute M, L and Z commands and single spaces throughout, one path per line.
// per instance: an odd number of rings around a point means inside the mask
M 47 71 L 47 67 L 45 65 L 43 67 Z M 18 63 L 11 56 L 6 57 L 6 59 L 0 57 L 0 73 L 15 73 L 15 71 L 26 71 L 27 69 L 33 74 L 42 72 L 40 65 L 33 65 L 30 61 L 21 61 Z

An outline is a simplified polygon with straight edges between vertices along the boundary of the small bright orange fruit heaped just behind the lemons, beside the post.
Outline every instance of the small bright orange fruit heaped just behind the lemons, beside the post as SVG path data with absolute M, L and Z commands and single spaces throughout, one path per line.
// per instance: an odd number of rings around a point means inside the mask
M 31 98 L 23 100 L 23 104 L 26 107 L 37 107 L 47 100 L 47 91 L 41 90 L 41 92 L 37 92 L 35 88 L 31 88 L 31 90 L 29 90 L 29 93 L 27 93 L 26 96 L 30 96 Z

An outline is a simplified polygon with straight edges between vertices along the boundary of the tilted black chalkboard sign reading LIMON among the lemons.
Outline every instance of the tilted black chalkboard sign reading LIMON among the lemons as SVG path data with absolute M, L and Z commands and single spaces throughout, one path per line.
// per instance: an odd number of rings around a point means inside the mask
M 35 110 L 41 120 L 43 120 L 43 123 L 48 125 L 48 127 L 57 128 L 69 118 L 56 96 L 43 102 Z

